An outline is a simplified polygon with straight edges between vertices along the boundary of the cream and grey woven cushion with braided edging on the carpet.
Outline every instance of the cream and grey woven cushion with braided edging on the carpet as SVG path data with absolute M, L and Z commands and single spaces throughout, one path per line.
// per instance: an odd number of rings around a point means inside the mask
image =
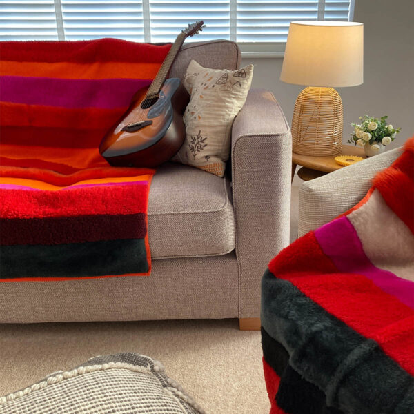
M 0 397 L 0 414 L 201 414 L 203 411 L 150 357 L 99 356 L 72 371 Z

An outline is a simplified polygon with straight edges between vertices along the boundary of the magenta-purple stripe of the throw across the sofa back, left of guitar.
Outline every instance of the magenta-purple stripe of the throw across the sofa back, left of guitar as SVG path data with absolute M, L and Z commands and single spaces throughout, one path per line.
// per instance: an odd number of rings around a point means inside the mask
M 55 79 L 1 76 L 1 101 L 63 108 L 122 108 L 129 106 L 149 79 Z

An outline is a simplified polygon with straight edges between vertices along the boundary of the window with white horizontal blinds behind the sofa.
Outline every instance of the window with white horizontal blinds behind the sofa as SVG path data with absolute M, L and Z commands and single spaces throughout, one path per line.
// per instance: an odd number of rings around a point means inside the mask
M 245 52 L 281 52 L 292 20 L 353 20 L 355 0 L 0 0 L 1 40 L 118 37 L 169 42 L 188 23 L 188 41 L 231 39 Z

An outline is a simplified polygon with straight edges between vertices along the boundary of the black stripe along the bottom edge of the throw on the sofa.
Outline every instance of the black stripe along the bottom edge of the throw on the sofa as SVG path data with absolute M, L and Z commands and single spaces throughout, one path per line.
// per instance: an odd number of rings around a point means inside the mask
M 0 279 L 93 277 L 148 272 L 144 239 L 0 246 Z

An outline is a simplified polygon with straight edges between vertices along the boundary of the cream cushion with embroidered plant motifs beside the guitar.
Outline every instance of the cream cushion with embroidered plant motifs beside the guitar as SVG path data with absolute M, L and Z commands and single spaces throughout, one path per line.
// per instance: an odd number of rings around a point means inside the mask
M 233 119 L 246 101 L 252 78 L 253 65 L 227 70 L 190 62 L 184 77 L 184 86 L 191 95 L 184 113 L 186 139 L 172 161 L 223 177 Z

